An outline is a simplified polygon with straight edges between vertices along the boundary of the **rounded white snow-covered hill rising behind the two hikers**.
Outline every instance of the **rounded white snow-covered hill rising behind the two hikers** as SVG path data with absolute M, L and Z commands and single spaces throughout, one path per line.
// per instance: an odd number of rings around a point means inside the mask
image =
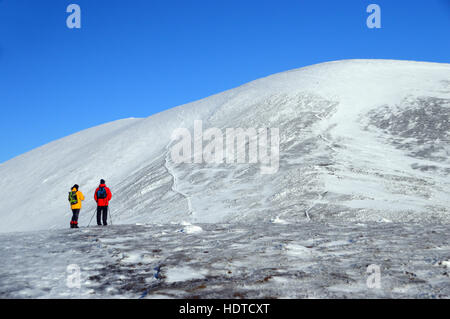
M 279 128 L 278 172 L 175 164 L 171 135 L 195 120 L 204 129 Z M 67 228 L 75 183 L 87 195 L 86 225 L 100 178 L 113 192 L 115 224 L 448 222 L 449 155 L 449 64 L 323 63 L 94 127 L 1 164 L 0 231 Z

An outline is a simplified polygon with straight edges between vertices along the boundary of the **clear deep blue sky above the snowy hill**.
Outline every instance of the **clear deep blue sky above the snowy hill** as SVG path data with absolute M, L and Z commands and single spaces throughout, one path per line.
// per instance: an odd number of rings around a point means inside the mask
M 449 30 L 450 0 L 0 0 L 0 162 L 315 63 L 449 63 Z

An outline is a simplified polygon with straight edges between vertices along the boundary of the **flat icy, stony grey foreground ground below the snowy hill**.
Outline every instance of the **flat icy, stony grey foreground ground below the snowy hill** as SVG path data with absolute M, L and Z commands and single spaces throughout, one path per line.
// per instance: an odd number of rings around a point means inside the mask
M 0 297 L 449 298 L 449 230 L 277 219 L 1 235 Z

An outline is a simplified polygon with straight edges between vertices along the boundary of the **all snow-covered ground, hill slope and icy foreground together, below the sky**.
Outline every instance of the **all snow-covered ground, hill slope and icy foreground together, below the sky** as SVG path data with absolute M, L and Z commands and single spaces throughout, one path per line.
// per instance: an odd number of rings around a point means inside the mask
M 279 170 L 174 163 L 196 120 L 278 128 Z M 0 297 L 450 298 L 449 155 L 450 64 L 425 62 L 323 63 L 84 130 L 0 164 Z M 114 225 L 67 229 L 70 187 L 87 226 L 100 178 Z

